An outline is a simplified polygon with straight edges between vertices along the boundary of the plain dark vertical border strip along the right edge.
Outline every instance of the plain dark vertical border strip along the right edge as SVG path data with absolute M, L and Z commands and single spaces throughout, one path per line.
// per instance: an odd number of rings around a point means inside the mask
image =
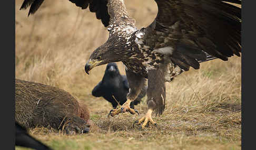
M 255 127 L 253 122 L 255 112 L 253 109 L 255 108 L 253 108 L 254 105 L 252 103 L 255 102 L 255 67 L 253 66 L 255 65 L 254 60 L 256 59 L 254 54 L 254 45 L 256 42 L 256 8 L 253 4 L 255 4 L 255 1 L 242 0 L 242 149 L 253 149 L 252 147 L 255 147 L 253 145 L 255 143 L 255 138 L 253 138 L 255 133 L 255 130 L 253 130 Z M 252 84 L 252 86 L 249 85 L 249 83 Z M 245 121 L 247 121 L 246 125 Z

